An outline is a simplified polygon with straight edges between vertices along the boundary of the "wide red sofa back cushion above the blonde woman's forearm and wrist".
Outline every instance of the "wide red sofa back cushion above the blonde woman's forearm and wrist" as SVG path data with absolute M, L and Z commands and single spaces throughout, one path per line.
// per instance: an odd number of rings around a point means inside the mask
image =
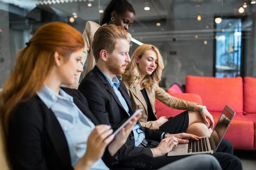
M 236 113 L 243 112 L 243 81 L 241 77 L 186 77 L 186 93 L 198 94 L 208 111 L 222 112 L 228 105 Z

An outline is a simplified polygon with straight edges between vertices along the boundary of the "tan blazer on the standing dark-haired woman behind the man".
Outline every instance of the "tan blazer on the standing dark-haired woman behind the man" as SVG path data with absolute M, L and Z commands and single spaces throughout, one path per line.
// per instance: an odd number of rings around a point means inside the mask
M 103 24 L 102 26 L 105 26 L 105 25 L 107 25 L 107 24 Z M 95 59 L 93 56 L 92 42 L 93 42 L 93 36 L 94 36 L 95 32 L 99 29 L 99 27 L 101 27 L 99 24 L 97 24 L 93 21 L 87 21 L 86 26 L 84 28 L 83 37 L 84 37 L 85 47 L 83 50 L 83 58 L 81 61 L 84 66 L 84 63 L 87 59 L 86 70 L 85 70 L 84 76 L 87 73 L 89 73 L 93 69 L 93 67 L 96 65 Z M 129 34 L 129 33 L 128 33 L 128 42 L 129 43 L 131 42 L 131 34 Z M 81 73 L 78 73 L 76 75 L 75 83 L 73 85 L 69 85 L 67 87 L 77 89 L 78 84 L 79 84 L 80 75 L 81 75 Z

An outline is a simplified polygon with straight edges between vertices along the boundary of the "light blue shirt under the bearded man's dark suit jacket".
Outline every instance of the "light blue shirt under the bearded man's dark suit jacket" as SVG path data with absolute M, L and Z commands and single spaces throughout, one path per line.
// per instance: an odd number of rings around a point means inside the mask
M 116 96 L 118 97 L 119 101 L 121 102 L 122 106 L 124 107 L 127 114 L 129 114 L 129 108 L 127 103 L 125 102 L 125 99 L 123 98 L 121 92 L 118 90 L 120 82 L 119 79 L 115 76 L 111 80 L 101 69 L 99 69 L 104 76 L 107 78 L 108 82 L 110 83 L 111 87 L 113 88 L 114 92 L 116 93 Z M 133 127 L 133 133 L 134 133 L 134 140 L 135 140 L 135 146 L 139 146 L 139 144 L 145 139 L 145 133 L 140 130 L 140 124 L 135 124 Z

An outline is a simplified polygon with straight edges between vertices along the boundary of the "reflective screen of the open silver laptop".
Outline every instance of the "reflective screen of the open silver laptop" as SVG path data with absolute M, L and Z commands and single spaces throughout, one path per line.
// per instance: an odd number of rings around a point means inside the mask
M 211 134 L 211 138 L 213 137 L 216 147 L 218 147 L 219 143 L 223 139 L 227 131 L 227 128 L 230 125 L 230 122 L 233 119 L 233 116 L 235 115 L 235 112 L 233 112 L 230 108 L 228 108 L 228 106 L 226 106 L 222 114 L 225 115 L 224 117 L 226 117 L 226 119 L 224 119 L 223 116 L 220 116 Z

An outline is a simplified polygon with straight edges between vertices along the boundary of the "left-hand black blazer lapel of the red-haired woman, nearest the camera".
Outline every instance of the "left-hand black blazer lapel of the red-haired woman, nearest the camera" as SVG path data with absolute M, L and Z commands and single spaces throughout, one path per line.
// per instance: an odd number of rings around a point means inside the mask
M 52 142 L 63 167 L 70 167 L 70 151 L 61 125 L 52 110 L 48 109 L 41 99 L 39 99 L 39 105 L 42 109 L 42 115 L 44 117 L 45 128 L 49 135 L 49 140 Z

